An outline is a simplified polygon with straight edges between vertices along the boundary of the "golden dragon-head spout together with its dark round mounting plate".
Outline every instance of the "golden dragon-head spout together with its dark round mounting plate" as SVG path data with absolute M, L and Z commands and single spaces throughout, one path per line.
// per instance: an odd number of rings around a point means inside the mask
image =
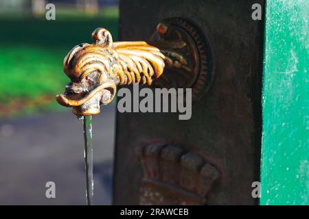
M 151 85 L 165 66 L 172 72 L 167 70 L 157 86 L 192 88 L 193 94 L 198 94 L 205 90 L 203 84 L 211 81 L 206 80 L 202 37 L 180 18 L 159 23 L 148 43 L 113 42 L 104 28 L 95 29 L 91 37 L 93 44 L 79 44 L 65 57 L 63 66 L 71 82 L 64 94 L 56 96 L 60 105 L 73 107 L 77 116 L 99 114 L 100 105 L 111 103 L 118 85 Z

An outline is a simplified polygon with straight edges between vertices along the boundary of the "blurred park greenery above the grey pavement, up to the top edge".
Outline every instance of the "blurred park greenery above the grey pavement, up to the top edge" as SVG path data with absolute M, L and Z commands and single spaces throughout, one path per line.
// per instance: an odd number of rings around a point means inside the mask
M 54 3 L 56 21 L 45 5 Z M 0 2 L 0 118 L 61 110 L 54 96 L 69 79 L 62 60 L 105 27 L 117 40 L 117 1 L 3 0 Z

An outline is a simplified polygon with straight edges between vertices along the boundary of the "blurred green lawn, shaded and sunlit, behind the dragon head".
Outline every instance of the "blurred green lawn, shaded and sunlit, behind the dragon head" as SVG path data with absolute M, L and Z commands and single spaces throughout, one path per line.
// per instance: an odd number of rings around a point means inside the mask
M 0 103 L 35 101 L 63 92 L 69 79 L 63 73 L 62 60 L 76 44 L 91 42 L 95 28 L 108 29 L 117 40 L 117 10 L 105 10 L 98 16 L 60 12 L 56 21 L 1 17 L 0 27 Z M 52 101 L 45 108 L 59 107 Z

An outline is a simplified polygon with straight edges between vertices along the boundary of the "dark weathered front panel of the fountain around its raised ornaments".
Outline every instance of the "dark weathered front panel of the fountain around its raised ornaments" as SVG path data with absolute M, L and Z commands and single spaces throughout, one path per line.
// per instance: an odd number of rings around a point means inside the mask
M 252 20 L 253 3 L 264 5 L 262 0 L 120 1 L 122 40 L 148 40 L 157 23 L 186 18 L 207 37 L 213 53 L 209 65 L 216 77 L 207 94 L 192 104 L 190 120 L 170 113 L 117 113 L 115 204 L 141 202 L 144 173 L 134 151 L 158 140 L 190 151 L 220 170 L 218 183 L 205 197 L 208 205 L 258 203 L 251 196 L 251 184 L 260 175 L 263 23 Z

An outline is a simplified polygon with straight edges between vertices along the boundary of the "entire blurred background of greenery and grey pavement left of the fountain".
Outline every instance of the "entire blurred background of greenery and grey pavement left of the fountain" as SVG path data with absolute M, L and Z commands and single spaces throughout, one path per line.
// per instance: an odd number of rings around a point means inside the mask
M 65 55 L 97 27 L 117 40 L 117 18 L 115 0 L 0 0 L 0 205 L 84 205 L 82 122 L 55 96 L 69 82 Z M 114 105 L 93 120 L 98 205 L 111 204 L 114 124 Z

